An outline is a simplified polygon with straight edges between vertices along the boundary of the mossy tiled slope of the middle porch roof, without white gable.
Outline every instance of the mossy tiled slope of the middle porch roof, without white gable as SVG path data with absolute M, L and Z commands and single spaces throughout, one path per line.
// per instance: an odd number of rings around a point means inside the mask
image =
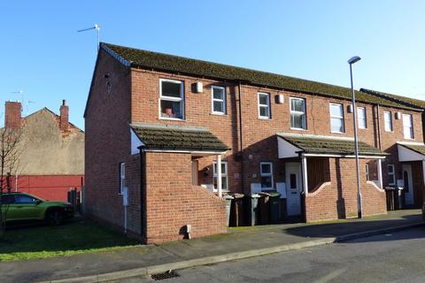
M 312 136 L 292 136 L 278 134 L 282 139 L 301 149 L 304 153 L 315 154 L 336 154 L 336 155 L 353 155 L 354 141 L 346 139 L 332 139 L 324 137 Z M 359 142 L 359 154 L 367 156 L 387 156 L 386 152 L 376 149 L 368 145 L 366 142 Z

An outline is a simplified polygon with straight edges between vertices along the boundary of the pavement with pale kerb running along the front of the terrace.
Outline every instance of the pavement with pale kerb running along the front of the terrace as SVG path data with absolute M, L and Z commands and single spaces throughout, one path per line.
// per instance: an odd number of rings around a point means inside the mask
M 267 255 L 421 226 L 421 210 L 315 225 L 236 227 L 229 233 L 158 246 L 141 246 L 25 262 L 0 263 L 1 282 L 98 282 Z

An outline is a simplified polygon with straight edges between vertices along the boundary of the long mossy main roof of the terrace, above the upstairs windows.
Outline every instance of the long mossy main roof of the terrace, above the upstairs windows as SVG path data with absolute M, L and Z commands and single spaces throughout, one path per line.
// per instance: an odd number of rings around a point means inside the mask
M 261 72 L 233 65 L 223 65 L 188 57 L 178 57 L 147 50 L 138 50 L 120 45 L 101 42 L 105 50 L 121 63 L 147 70 L 167 73 L 181 73 L 217 80 L 243 81 L 243 83 L 267 88 L 278 88 L 304 92 L 311 95 L 331 96 L 351 100 L 351 88 L 344 88 L 313 80 L 303 80 L 276 73 Z M 356 91 L 356 99 L 363 103 L 380 103 L 387 106 L 411 109 L 397 103 L 365 92 Z

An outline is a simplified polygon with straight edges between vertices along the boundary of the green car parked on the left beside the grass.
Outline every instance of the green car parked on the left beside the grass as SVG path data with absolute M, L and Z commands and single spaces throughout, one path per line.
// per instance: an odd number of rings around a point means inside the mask
M 73 217 L 70 203 L 44 201 L 26 193 L 7 193 L 2 195 L 2 214 L 6 223 L 45 220 L 58 226 L 65 218 Z

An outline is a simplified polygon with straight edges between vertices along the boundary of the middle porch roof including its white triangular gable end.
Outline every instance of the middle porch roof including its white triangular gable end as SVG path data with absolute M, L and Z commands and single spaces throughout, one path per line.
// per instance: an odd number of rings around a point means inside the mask
M 318 135 L 302 134 L 277 134 L 281 140 L 279 143 L 279 157 L 298 157 L 299 153 L 317 154 L 317 155 L 354 155 L 354 141 L 350 138 L 338 138 Z M 282 141 L 284 141 L 282 143 Z M 285 144 L 286 143 L 286 144 Z M 285 149 L 283 149 L 283 147 Z M 285 156 L 286 153 L 286 156 Z M 366 142 L 359 142 L 359 155 L 383 157 L 389 154 L 368 145 Z

